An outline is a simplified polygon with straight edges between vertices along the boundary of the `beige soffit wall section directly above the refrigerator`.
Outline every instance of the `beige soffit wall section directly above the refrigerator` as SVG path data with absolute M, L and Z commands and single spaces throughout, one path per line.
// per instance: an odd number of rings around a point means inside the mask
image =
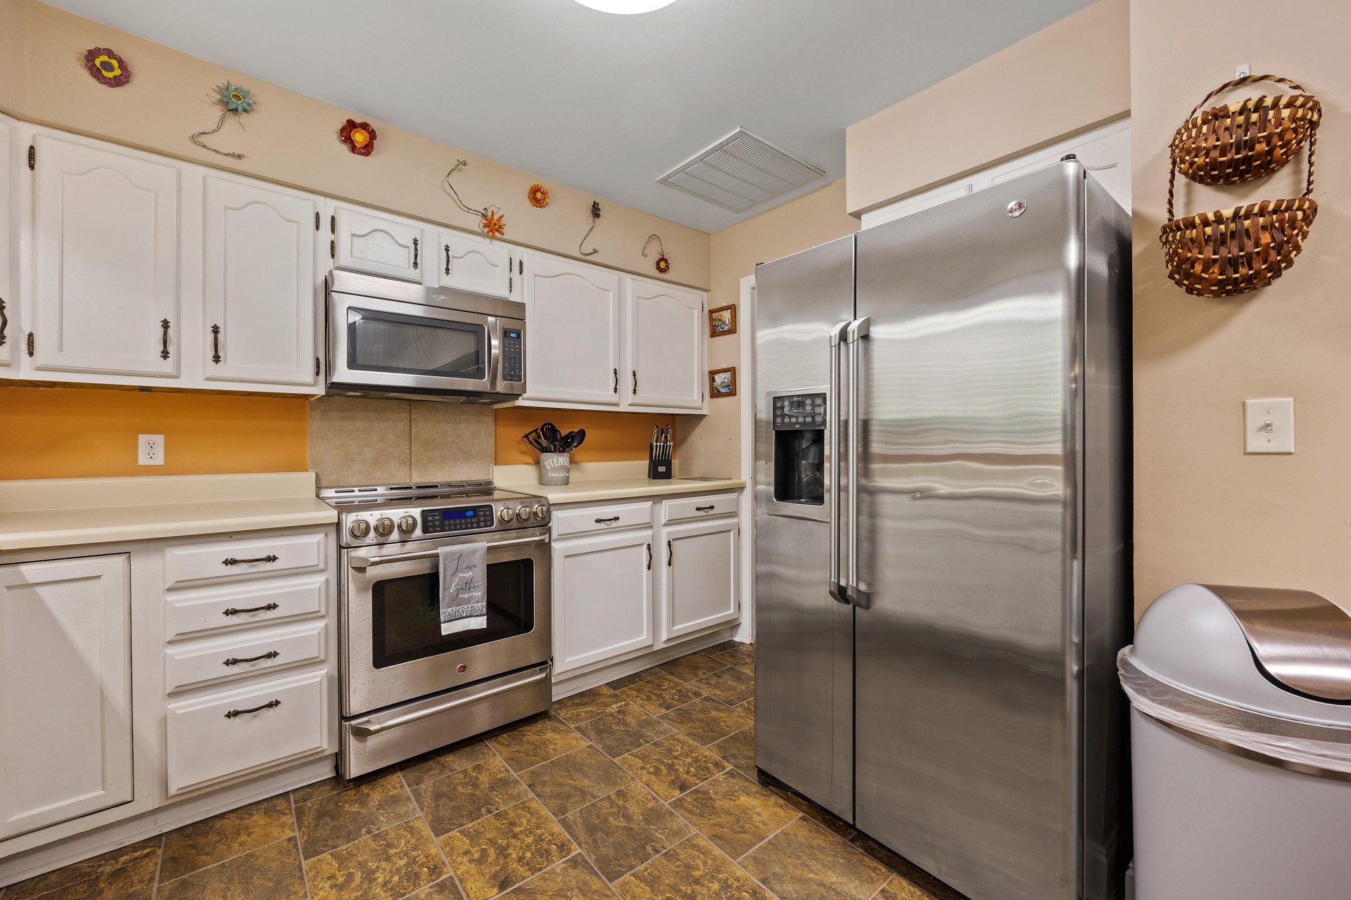
M 848 212 L 859 216 L 1120 119 L 1131 108 L 1128 32 L 1128 0 L 1098 0 L 850 125 Z

